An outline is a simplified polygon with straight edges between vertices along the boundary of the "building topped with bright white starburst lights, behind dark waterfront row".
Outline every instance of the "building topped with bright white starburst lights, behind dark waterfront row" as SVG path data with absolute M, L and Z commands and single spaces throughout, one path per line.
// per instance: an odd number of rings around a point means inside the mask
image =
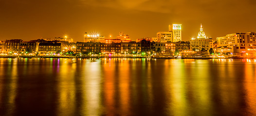
M 100 36 L 99 34 L 88 34 L 84 33 L 84 43 L 105 43 L 105 37 Z

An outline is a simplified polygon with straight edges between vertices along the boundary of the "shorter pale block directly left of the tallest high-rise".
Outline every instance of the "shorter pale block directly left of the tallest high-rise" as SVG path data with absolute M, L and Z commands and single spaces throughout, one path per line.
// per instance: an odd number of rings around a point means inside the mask
M 157 32 L 157 42 L 172 42 L 172 32 Z

